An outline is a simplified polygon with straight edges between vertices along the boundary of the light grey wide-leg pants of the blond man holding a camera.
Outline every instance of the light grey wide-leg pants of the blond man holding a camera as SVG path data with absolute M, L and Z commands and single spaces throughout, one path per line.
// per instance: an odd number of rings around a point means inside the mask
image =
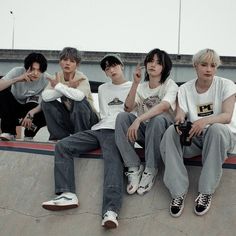
M 172 198 L 186 194 L 189 179 L 183 156 L 190 158 L 202 155 L 202 170 L 198 192 L 213 194 L 222 176 L 222 164 L 227 151 L 234 146 L 232 132 L 224 124 L 213 124 L 202 136 L 193 137 L 191 146 L 181 147 L 179 135 L 170 126 L 161 141 L 161 155 L 165 164 L 164 183 Z

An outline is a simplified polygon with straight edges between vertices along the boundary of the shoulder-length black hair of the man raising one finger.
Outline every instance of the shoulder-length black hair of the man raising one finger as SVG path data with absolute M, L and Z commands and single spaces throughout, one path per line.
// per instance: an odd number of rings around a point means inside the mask
M 159 64 L 162 65 L 163 67 L 160 80 L 160 83 L 162 84 L 166 81 L 166 79 L 170 75 L 170 71 L 172 69 L 172 61 L 170 59 L 170 56 L 165 51 L 160 50 L 159 48 L 151 50 L 144 59 L 144 65 L 146 69 L 144 80 L 149 81 L 149 75 L 147 73 L 147 63 L 153 60 L 154 55 L 157 55 Z

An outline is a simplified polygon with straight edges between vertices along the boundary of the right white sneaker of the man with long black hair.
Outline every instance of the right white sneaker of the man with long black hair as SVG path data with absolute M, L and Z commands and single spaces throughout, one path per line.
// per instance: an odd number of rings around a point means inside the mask
M 157 171 L 157 169 L 152 172 L 144 170 L 137 190 L 139 195 L 143 195 L 151 190 L 157 176 Z

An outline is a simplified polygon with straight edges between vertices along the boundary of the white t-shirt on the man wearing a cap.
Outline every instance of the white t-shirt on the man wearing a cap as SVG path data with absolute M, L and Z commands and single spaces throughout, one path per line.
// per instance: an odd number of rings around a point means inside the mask
M 115 129 L 118 113 L 124 111 L 125 99 L 132 83 L 127 81 L 120 85 L 107 82 L 98 88 L 98 100 L 101 120 L 92 127 L 92 130 Z

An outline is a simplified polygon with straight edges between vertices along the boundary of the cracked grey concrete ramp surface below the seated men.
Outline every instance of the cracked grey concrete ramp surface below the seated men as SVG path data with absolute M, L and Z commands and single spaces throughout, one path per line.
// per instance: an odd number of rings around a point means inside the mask
M 1 236 L 235 236 L 236 171 L 224 169 L 210 211 L 202 217 L 193 212 L 200 167 L 188 166 L 190 189 L 183 215 L 168 212 L 170 196 L 163 185 L 163 171 L 153 189 L 144 196 L 129 196 L 124 202 L 119 227 L 101 227 L 103 161 L 77 159 L 75 173 L 80 207 L 50 212 L 41 203 L 54 196 L 53 157 L 0 151 Z

